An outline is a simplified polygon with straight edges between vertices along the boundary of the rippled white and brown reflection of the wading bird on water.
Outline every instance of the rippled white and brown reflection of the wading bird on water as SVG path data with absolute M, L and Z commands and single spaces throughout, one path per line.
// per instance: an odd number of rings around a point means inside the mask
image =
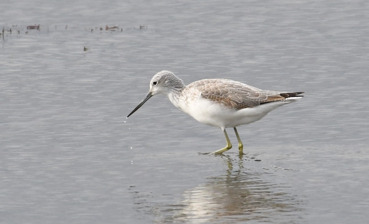
M 286 186 L 263 180 L 266 173 L 243 167 L 244 160 L 225 157 L 227 174 L 184 191 L 177 204 L 161 205 L 152 211 L 156 223 L 238 223 L 248 220 L 294 220 L 298 202 L 283 191 Z

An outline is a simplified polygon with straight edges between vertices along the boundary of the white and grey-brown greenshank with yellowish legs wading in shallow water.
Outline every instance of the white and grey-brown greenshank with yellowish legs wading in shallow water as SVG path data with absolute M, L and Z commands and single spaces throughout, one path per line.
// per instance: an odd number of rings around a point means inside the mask
M 202 79 L 184 85 L 173 72 L 161 71 L 152 77 L 149 93 L 127 118 L 151 96 L 164 94 L 177 108 L 197 121 L 223 130 L 227 145 L 210 154 L 222 154 L 231 149 L 226 128 L 233 128 L 238 140 L 238 151 L 243 155 L 243 144 L 236 127 L 260 120 L 273 109 L 299 100 L 304 92 L 269 91 L 230 79 Z

